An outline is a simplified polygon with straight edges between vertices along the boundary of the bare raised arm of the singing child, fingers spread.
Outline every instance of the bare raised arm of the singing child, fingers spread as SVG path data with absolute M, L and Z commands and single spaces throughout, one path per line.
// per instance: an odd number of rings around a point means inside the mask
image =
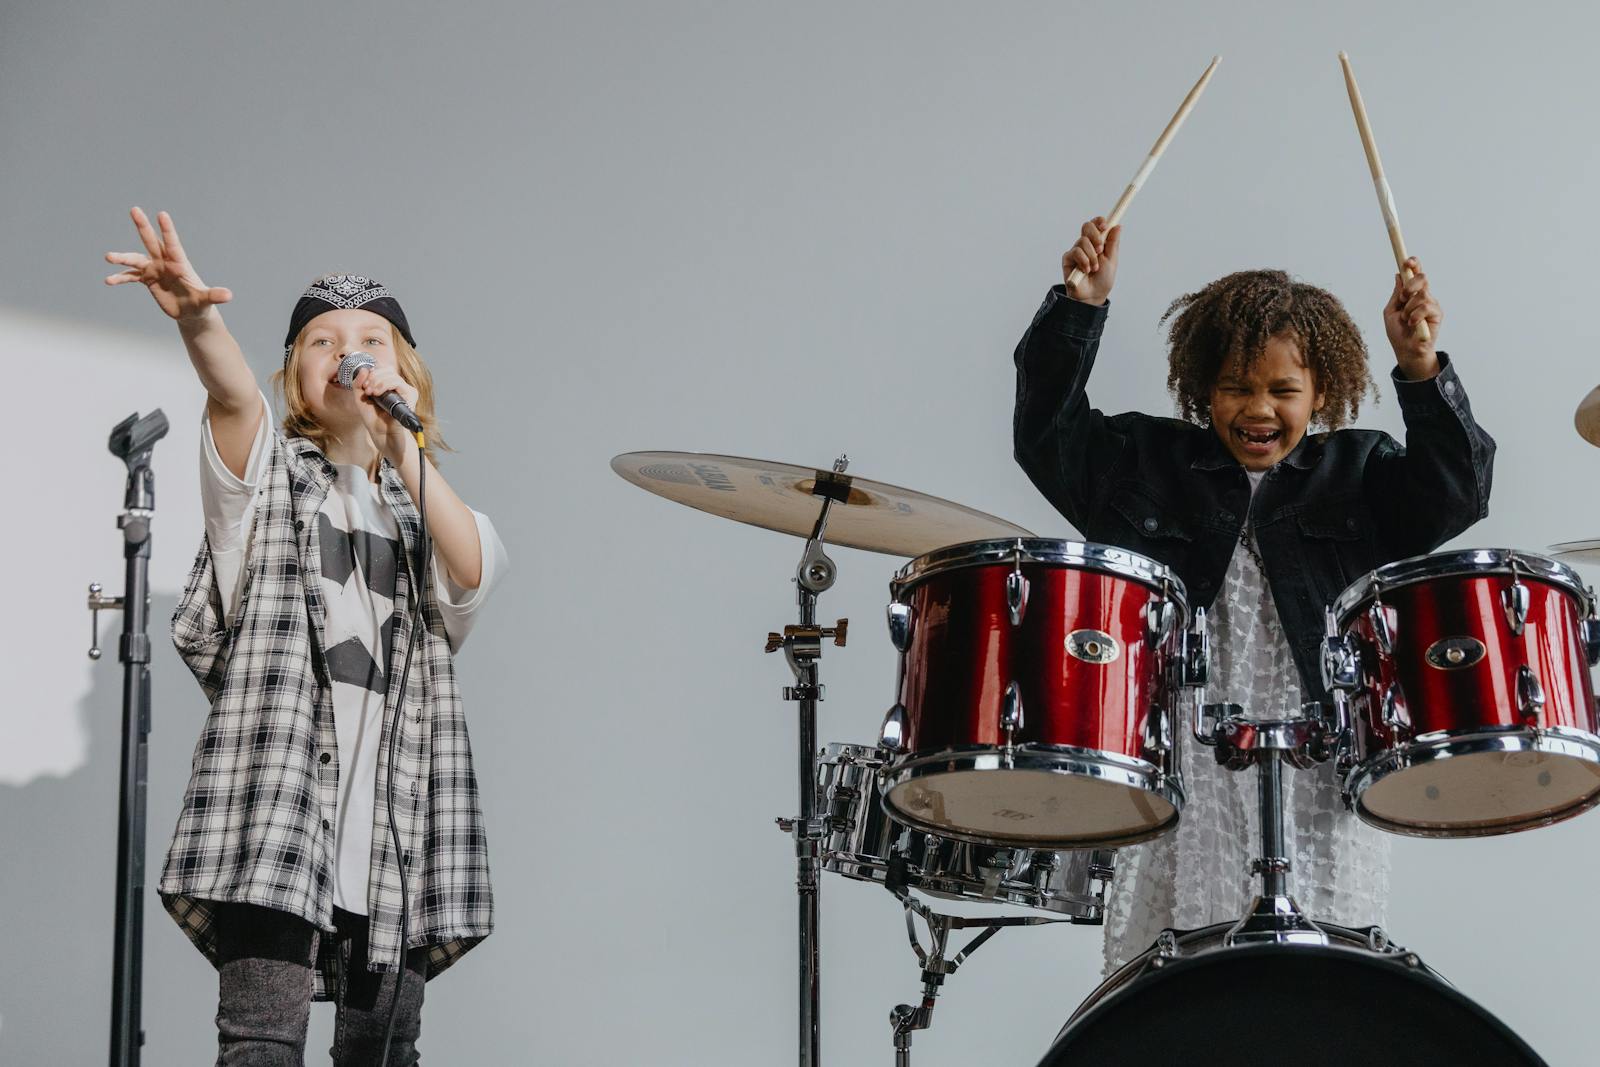
M 266 413 L 256 376 L 218 310 L 218 304 L 229 302 L 234 294 L 200 280 L 170 214 L 162 211 L 155 216 L 160 234 L 142 210 L 134 208 L 130 214 L 144 253 L 106 253 L 106 262 L 125 267 L 107 277 L 106 285 L 139 282 L 155 298 L 155 306 L 178 323 L 189 362 L 205 386 L 206 418 L 211 421 L 218 456 L 229 470 L 243 477 L 250 445 Z

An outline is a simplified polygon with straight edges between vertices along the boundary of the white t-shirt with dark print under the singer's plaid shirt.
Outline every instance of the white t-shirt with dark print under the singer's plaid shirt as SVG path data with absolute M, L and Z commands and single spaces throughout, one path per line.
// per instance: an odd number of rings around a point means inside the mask
M 227 624 L 238 611 L 256 490 L 269 450 L 278 442 L 269 419 L 270 408 L 262 397 L 261 429 L 250 446 L 243 478 L 235 477 L 218 456 L 210 419 L 203 421 L 200 435 L 200 504 Z M 382 798 L 378 797 L 378 750 L 397 622 L 395 574 L 403 568 L 403 549 L 398 523 L 378 483 L 354 464 L 336 464 L 334 469 L 334 483 L 317 514 L 325 603 L 322 646 L 333 681 L 333 728 L 339 745 L 333 902 L 366 915 L 373 821 L 384 816 Z M 478 525 L 483 563 L 478 587 L 467 590 L 456 585 L 437 552 L 432 560 L 438 611 L 451 651 L 461 648 L 478 608 L 506 573 L 506 545 L 494 525 L 478 512 L 472 517 Z

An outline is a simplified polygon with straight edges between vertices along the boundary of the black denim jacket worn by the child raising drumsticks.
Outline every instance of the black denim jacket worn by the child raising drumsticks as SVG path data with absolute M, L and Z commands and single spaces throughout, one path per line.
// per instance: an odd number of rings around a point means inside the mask
M 1494 440 L 1472 421 L 1450 358 L 1421 382 L 1392 376 L 1406 445 L 1378 430 L 1307 434 L 1261 480 L 1216 432 L 1085 392 L 1106 306 L 1058 285 L 1016 347 L 1016 461 L 1086 541 L 1168 565 L 1210 608 L 1248 518 L 1307 699 L 1322 685 L 1325 609 L 1368 571 L 1432 552 L 1488 514 Z M 1258 715 L 1294 709 L 1246 709 Z

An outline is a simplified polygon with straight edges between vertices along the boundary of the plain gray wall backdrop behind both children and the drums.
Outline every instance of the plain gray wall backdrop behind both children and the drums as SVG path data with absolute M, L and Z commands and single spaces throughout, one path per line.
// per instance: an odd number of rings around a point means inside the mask
M 1597 373 L 1600 94 L 1579 5 L 75 3 L 0 8 L 0 323 L 22 478 L 6 523 L 0 1061 L 104 1056 L 120 587 L 110 422 L 165 406 L 155 614 L 200 536 L 200 392 L 170 323 L 99 278 L 171 210 L 266 376 L 299 288 L 365 270 L 438 379 L 445 466 L 514 573 L 461 657 L 499 929 L 429 990 L 434 1064 L 781 1064 L 794 1045 L 787 672 L 800 542 L 640 493 L 638 448 L 826 464 L 1069 528 L 1010 458 L 1010 354 L 1213 53 L 1128 216 L 1096 402 L 1168 410 L 1155 320 L 1242 267 L 1350 306 L 1387 370 L 1392 264 L 1334 54 L 1349 50 L 1443 347 L 1501 442 L 1462 544 L 1600 534 L 1571 430 Z M 1363 424 L 1398 429 L 1392 394 Z M 11 429 L 19 424 L 11 421 Z M 13 483 L 14 485 L 14 483 Z M 19 531 L 19 533 L 18 533 Z M 824 741 L 890 701 L 901 560 L 840 550 Z M 115 625 L 117 621 L 112 619 Z M 150 859 L 205 705 L 158 643 Z M 1400 841 L 1392 931 L 1552 1064 L 1594 1062 L 1600 816 Z M 152 875 L 154 877 L 154 875 Z M 150 1064 L 213 1054 L 214 982 L 149 910 Z M 899 909 L 826 878 L 826 1051 L 890 1062 L 915 993 Z M 1034 1062 L 1098 931 L 1002 934 L 917 1062 Z M 1307 1005 L 1315 990 L 1294 990 Z M 1248 1017 L 1248 1011 L 1243 1013 Z M 1336 1040 L 1341 1021 L 1315 1019 Z M 326 1021 L 317 1038 L 325 1046 Z

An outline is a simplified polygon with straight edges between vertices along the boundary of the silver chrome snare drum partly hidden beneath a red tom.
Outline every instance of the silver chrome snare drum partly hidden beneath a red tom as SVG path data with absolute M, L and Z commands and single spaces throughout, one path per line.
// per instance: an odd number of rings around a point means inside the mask
M 867 745 L 830 744 L 822 752 L 822 867 L 950 901 L 1018 904 L 1077 923 L 1102 920 L 1115 853 L 990 848 L 912 830 L 885 814 L 877 787 L 882 769 L 882 755 Z

